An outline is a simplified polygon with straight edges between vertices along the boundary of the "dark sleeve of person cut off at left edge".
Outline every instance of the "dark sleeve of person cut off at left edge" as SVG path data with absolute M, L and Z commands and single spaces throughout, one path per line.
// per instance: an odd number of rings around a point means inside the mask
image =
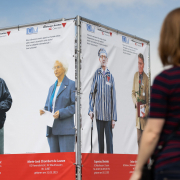
M 5 81 L 1 83 L 2 96 L 0 97 L 0 112 L 7 112 L 12 105 L 12 97 Z

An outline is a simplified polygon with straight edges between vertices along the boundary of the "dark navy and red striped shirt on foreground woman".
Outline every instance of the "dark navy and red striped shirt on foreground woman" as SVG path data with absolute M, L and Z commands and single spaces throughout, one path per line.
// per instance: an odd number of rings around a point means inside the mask
M 151 92 L 150 118 L 164 118 L 158 145 L 172 133 L 180 121 L 180 67 L 164 70 L 154 80 Z M 180 129 L 157 155 L 155 169 L 180 165 Z

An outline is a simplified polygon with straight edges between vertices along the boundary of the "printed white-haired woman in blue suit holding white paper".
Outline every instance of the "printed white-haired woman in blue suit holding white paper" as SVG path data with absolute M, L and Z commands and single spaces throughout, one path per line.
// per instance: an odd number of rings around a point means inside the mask
M 47 139 L 50 152 L 73 152 L 75 143 L 75 82 L 66 73 L 66 61 L 55 61 L 56 82 L 49 88 L 44 109 L 54 113 L 53 127 L 47 126 Z M 40 110 L 40 115 L 44 114 Z

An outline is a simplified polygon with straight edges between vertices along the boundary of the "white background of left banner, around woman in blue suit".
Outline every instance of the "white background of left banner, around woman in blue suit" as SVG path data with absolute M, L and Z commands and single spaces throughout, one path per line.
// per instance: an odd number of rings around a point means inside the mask
M 13 98 L 4 127 L 5 154 L 49 152 L 46 124 L 39 109 L 44 107 L 49 87 L 56 81 L 52 70 L 55 60 L 66 59 L 67 76 L 75 80 L 75 23 L 73 20 L 64 23 L 65 28 L 49 30 L 37 25 L 37 34 L 26 35 L 26 28 L 21 28 L 10 30 L 10 36 L 0 37 L 0 77 Z M 60 37 L 50 44 L 26 49 L 26 39 L 56 35 Z

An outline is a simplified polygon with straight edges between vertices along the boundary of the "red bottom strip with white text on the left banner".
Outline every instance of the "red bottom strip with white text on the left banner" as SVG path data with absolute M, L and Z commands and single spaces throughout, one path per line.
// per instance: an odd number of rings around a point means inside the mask
M 2 180 L 75 180 L 75 152 L 0 155 Z

